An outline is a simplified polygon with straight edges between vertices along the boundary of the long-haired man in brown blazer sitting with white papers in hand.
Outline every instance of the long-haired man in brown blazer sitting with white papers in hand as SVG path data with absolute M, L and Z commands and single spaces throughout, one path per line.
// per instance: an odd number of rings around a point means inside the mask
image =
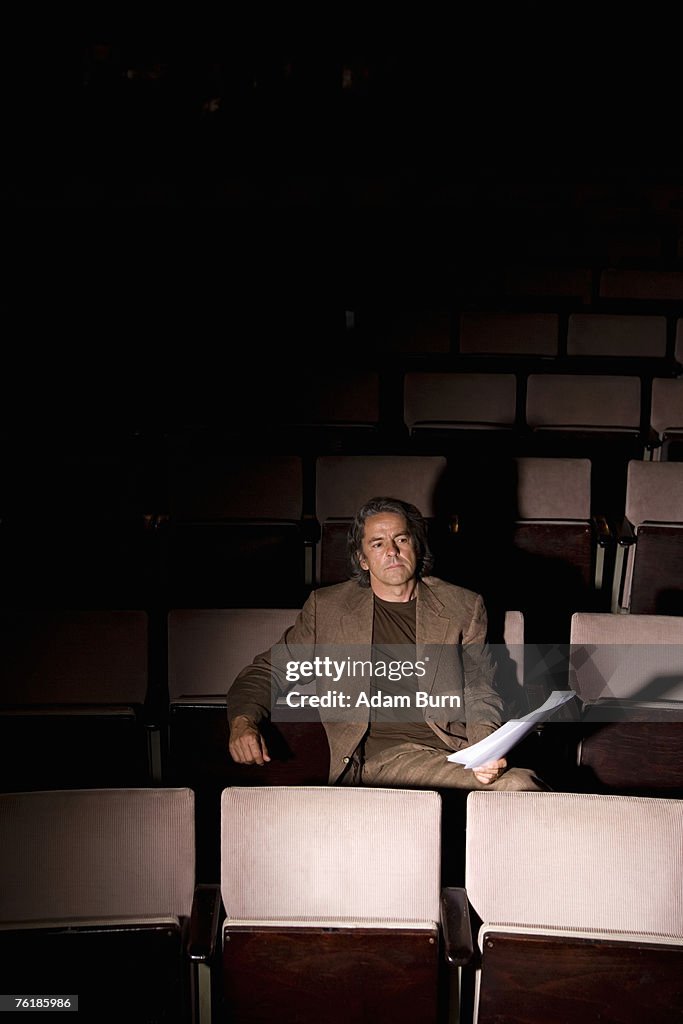
M 314 649 L 332 651 L 327 666 L 319 658 L 307 668 L 310 677 L 324 667 L 317 693 L 323 681 L 337 706 L 321 714 L 330 744 L 331 784 L 548 788 L 533 771 L 509 767 L 505 758 L 472 769 L 447 760 L 501 725 L 503 701 L 494 686 L 483 600 L 429 575 L 433 556 L 419 509 L 395 498 L 372 498 L 349 528 L 348 554 L 351 579 L 314 590 L 280 643 L 258 654 L 229 687 L 232 760 L 245 765 L 270 760 L 259 725 L 271 714 L 278 694 L 286 692 L 282 668 L 286 663 L 289 675 L 300 651 Z M 383 675 L 373 681 L 372 696 L 364 689 L 367 679 L 360 689 L 356 681 L 353 695 L 345 692 L 338 681 L 341 669 L 338 674 L 329 667 L 367 666 L 362 657 L 354 662 L 348 654 L 368 650 L 375 668 L 383 652 L 399 651 L 393 664 L 413 677 L 411 685 L 405 687 L 402 678 L 396 685 Z M 301 706 L 300 696 L 295 706 Z

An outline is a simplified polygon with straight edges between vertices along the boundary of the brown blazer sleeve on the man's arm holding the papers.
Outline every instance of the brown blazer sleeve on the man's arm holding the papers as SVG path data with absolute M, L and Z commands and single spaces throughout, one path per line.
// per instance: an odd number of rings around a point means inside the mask
M 463 675 L 467 741 L 471 745 L 490 735 L 503 721 L 503 700 L 494 688 L 496 666 L 486 640 L 486 608 L 477 595 L 469 626 L 463 634 Z

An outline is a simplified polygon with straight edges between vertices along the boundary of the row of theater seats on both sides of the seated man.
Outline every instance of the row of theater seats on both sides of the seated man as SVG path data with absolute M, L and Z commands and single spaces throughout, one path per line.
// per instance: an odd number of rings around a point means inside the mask
M 267 768 L 236 765 L 228 754 L 226 692 L 296 613 L 173 609 L 163 649 L 142 611 L 6 613 L 2 791 L 191 787 L 198 877 L 215 881 L 225 786 L 329 778 L 322 722 L 286 707 L 266 728 Z M 577 694 L 512 751 L 513 763 L 568 792 L 683 796 L 683 617 L 577 612 L 568 644 L 536 644 L 522 613 L 510 610 L 492 649 L 506 718 L 533 711 L 554 689 Z

